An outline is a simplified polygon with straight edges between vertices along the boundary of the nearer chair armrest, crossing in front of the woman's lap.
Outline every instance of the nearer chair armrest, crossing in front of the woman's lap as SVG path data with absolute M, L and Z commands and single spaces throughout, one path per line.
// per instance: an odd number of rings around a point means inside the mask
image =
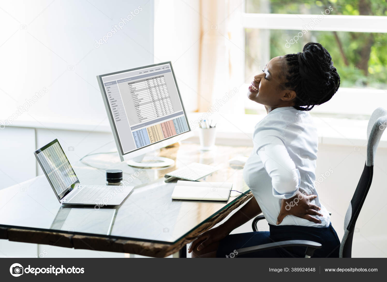
M 252 246 L 248 248 L 238 249 L 236 252 L 238 252 L 237 256 L 245 255 L 248 253 L 253 253 L 256 251 L 263 251 L 263 250 L 269 250 L 269 249 L 275 249 L 275 248 L 284 248 L 284 247 L 291 247 L 291 246 L 300 246 L 300 247 L 307 247 L 307 251 L 305 252 L 306 257 L 311 257 L 316 249 L 321 248 L 321 244 L 313 241 L 307 241 L 307 240 L 288 240 L 288 241 L 279 241 L 279 242 L 273 242 L 268 244 L 262 244 L 257 246 Z

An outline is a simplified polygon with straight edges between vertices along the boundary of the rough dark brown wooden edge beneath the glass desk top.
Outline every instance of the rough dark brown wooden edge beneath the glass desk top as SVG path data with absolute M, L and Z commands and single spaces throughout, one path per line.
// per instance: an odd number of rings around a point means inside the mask
M 110 251 L 118 253 L 130 253 L 143 256 L 163 258 L 178 252 L 183 246 L 192 242 L 199 234 L 211 229 L 221 222 L 227 215 L 252 197 L 252 193 L 247 193 L 236 200 L 228 208 L 216 214 L 210 220 L 200 225 L 175 244 L 150 243 L 144 241 L 132 241 L 113 238 L 102 238 L 96 236 L 75 235 L 71 233 L 36 231 L 18 228 L 0 227 L 0 239 L 9 241 L 46 244 L 65 248 Z

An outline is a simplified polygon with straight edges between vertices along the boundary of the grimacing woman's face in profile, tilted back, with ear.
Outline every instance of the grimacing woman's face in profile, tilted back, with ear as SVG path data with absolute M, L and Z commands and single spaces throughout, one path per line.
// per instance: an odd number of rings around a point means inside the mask
M 272 58 L 263 72 L 255 75 L 248 87 L 248 99 L 271 108 L 293 106 L 295 92 L 281 88 L 285 79 L 285 60 L 284 56 Z

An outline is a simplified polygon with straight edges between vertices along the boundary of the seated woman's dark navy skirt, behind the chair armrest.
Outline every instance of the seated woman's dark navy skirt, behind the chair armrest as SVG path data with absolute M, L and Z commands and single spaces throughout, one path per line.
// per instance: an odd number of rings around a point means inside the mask
M 308 240 L 322 244 L 321 249 L 314 252 L 313 258 L 338 258 L 340 240 L 332 224 L 328 227 L 310 227 L 283 225 L 274 226 L 269 224 L 270 232 L 257 231 L 226 236 L 219 242 L 216 256 L 218 258 L 233 258 L 235 250 L 251 246 L 286 241 L 286 240 Z M 286 247 L 264 250 L 247 255 L 244 258 L 303 258 L 306 247 Z

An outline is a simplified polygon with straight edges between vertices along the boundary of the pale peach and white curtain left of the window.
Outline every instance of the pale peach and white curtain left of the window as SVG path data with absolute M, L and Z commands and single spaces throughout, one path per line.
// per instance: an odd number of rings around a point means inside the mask
M 200 1 L 199 112 L 243 111 L 242 7 L 237 0 Z

